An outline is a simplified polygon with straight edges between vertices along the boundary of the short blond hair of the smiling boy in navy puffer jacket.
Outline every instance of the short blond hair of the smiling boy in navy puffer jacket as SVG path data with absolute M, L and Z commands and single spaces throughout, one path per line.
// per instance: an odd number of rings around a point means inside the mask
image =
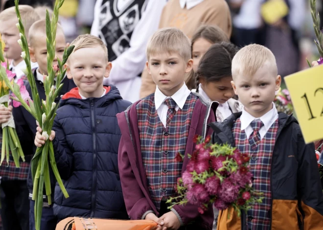
M 78 49 L 100 46 L 105 53 L 106 59 L 108 61 L 108 49 L 107 46 L 102 42 L 101 39 L 90 34 L 83 34 L 78 36 L 70 45 L 74 45 L 73 52 Z

